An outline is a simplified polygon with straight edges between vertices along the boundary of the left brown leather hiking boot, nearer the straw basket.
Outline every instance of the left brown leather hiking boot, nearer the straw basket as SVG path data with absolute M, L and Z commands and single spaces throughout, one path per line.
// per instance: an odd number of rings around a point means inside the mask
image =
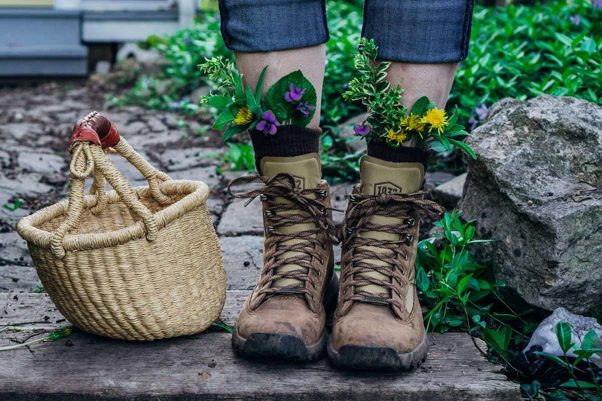
M 332 254 L 338 240 L 318 155 L 308 156 L 262 158 L 264 174 L 284 170 L 294 175 L 241 177 L 228 185 L 230 192 L 237 183 L 264 184 L 234 195 L 259 196 L 265 228 L 264 267 L 232 332 L 232 345 L 240 354 L 298 361 L 324 354 L 326 314 L 334 312 L 338 299 Z

